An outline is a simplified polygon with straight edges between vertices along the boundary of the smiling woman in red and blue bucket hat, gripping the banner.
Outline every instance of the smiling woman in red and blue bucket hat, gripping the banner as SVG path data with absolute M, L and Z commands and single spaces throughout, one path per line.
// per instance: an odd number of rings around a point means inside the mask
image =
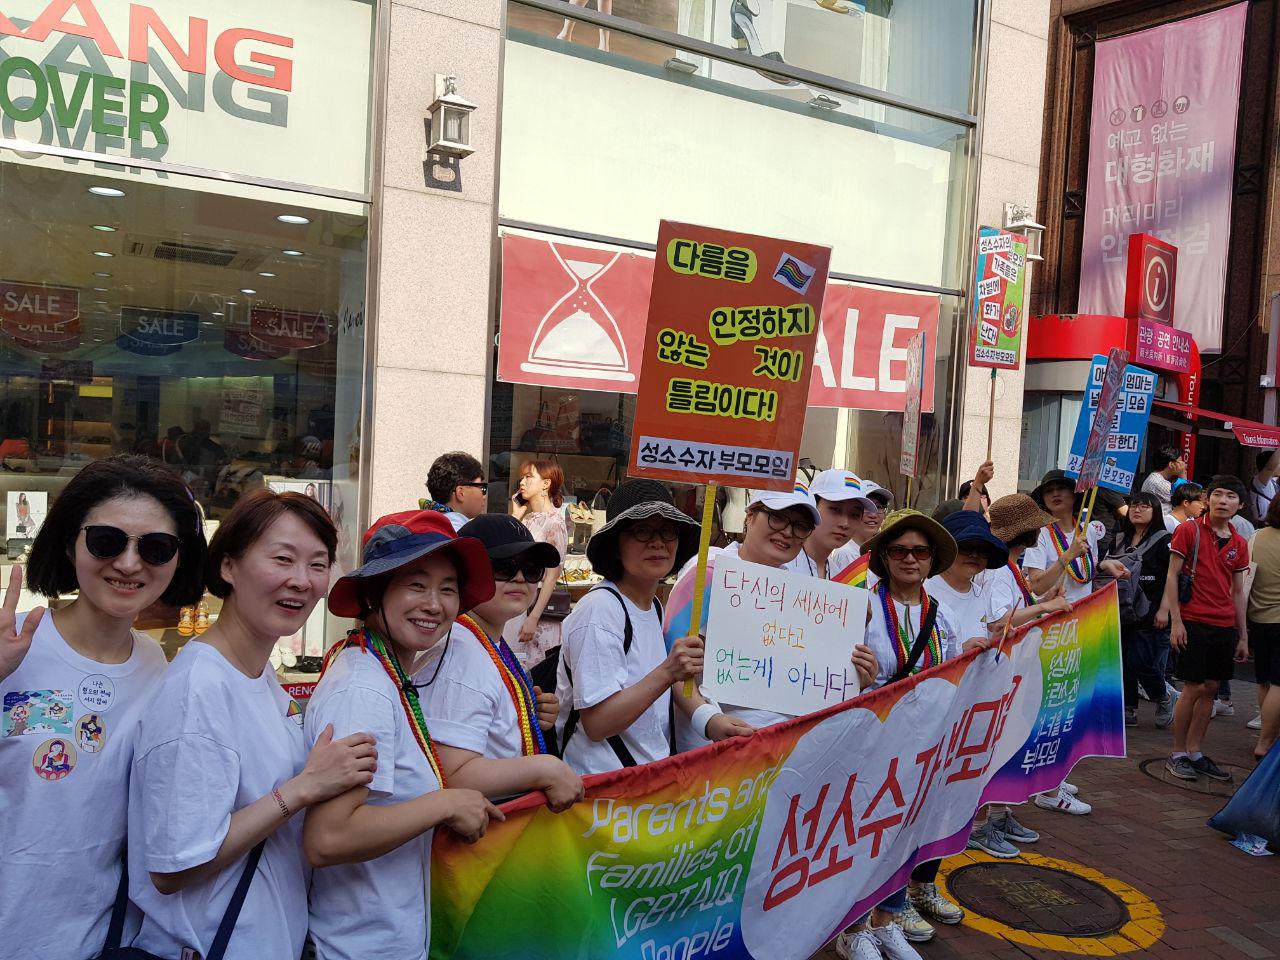
M 447 788 L 420 700 L 433 678 L 410 677 L 448 643 L 460 613 L 493 596 L 493 571 L 484 545 L 456 536 L 435 511 L 379 518 L 362 561 L 329 591 L 329 612 L 360 622 L 325 655 L 306 735 L 366 731 L 378 764 L 371 780 L 307 814 L 311 937 L 320 960 L 425 960 L 434 829 L 474 842 L 504 818 L 479 791 Z

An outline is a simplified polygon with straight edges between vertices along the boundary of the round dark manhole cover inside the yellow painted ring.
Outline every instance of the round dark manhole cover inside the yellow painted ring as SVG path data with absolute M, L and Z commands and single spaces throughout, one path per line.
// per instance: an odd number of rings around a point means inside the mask
M 1033 933 L 1101 937 L 1119 932 L 1129 910 L 1085 877 L 1027 863 L 973 863 L 947 877 L 961 906 Z

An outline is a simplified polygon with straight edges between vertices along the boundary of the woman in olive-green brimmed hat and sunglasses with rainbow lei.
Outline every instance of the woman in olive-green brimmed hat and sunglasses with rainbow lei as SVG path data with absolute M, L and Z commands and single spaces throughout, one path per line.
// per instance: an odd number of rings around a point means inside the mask
M 884 517 L 881 531 L 867 541 L 864 550 L 869 554 L 868 570 L 878 577 L 870 595 L 865 634 L 867 644 L 879 663 L 879 673 L 870 686 L 919 673 L 956 657 L 964 637 L 955 614 L 931 596 L 924 586 L 928 577 L 940 576 L 955 562 L 956 541 L 946 527 L 918 511 L 899 509 Z M 922 636 L 925 637 L 923 645 L 916 643 Z M 915 650 L 919 653 L 913 657 Z M 919 876 L 927 876 L 927 865 L 922 865 Z M 928 881 L 918 881 L 923 882 Z M 923 897 L 923 888 L 918 890 Z M 836 938 L 836 955 L 842 960 L 881 956 L 918 960 L 919 954 L 897 922 L 905 913 L 906 887 L 841 933 Z M 911 919 L 915 920 L 913 934 L 916 940 L 933 937 L 929 924 L 918 915 Z

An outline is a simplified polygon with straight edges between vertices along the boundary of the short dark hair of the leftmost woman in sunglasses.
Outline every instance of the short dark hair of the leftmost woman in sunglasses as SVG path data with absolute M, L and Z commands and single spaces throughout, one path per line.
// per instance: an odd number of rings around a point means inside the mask
M 41 596 L 58 596 L 79 588 L 72 557 L 84 517 L 118 497 L 150 497 L 164 507 L 178 535 L 178 566 L 160 602 L 169 607 L 196 603 L 205 593 L 201 579 L 207 549 L 200 509 L 175 472 L 157 460 L 134 454 L 86 465 L 58 494 L 31 547 L 28 589 Z

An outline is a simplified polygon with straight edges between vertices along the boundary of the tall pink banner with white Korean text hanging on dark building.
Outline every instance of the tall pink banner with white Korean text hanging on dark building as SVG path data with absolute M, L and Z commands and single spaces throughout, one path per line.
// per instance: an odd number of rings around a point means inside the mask
M 1221 351 L 1247 14 L 1097 45 L 1079 312 L 1124 315 L 1128 237 L 1151 233 L 1178 247 L 1174 325 Z

